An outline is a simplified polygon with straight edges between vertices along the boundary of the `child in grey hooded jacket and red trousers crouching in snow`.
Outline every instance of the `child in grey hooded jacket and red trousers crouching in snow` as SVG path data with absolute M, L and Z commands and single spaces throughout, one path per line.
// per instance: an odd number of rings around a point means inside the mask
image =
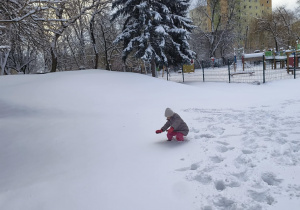
M 183 136 L 188 135 L 189 128 L 181 117 L 172 111 L 170 108 L 166 108 L 165 116 L 167 118 L 166 124 L 156 133 L 162 133 L 171 127 L 167 133 L 168 141 L 171 141 L 173 136 L 176 136 L 177 141 L 183 141 Z

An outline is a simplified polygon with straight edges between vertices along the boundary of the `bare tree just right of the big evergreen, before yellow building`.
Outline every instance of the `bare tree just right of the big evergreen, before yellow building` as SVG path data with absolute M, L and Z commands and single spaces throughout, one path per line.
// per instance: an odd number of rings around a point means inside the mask
M 227 47 L 233 46 L 235 42 L 234 23 L 237 20 L 239 0 L 228 0 L 227 6 L 221 3 L 221 0 L 199 0 L 194 10 L 198 20 L 193 22 L 198 28 L 193 32 L 193 41 L 196 40 L 197 45 L 202 44 L 201 49 L 208 52 L 206 58 L 215 57 L 217 52 L 223 57 Z

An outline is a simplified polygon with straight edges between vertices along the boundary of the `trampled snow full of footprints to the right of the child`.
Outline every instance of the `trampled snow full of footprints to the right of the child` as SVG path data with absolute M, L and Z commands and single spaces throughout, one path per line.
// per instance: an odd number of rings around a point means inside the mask
M 300 199 L 300 183 L 294 180 L 300 165 L 300 113 L 289 113 L 299 105 L 287 101 L 275 111 L 184 110 L 192 122 L 188 138 L 199 144 L 199 157 L 183 157 L 195 162 L 176 171 L 196 184 L 195 205 L 260 210 L 271 208 L 282 195 Z

